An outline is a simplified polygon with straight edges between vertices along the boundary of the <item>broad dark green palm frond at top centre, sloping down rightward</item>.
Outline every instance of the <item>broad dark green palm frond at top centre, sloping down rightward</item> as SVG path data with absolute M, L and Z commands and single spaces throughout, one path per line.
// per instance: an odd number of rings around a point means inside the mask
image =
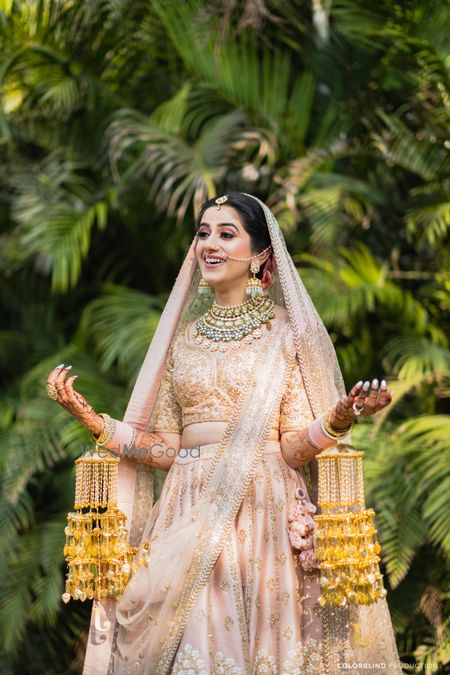
M 155 7 L 174 48 L 199 81 L 246 110 L 255 125 L 275 126 L 283 145 L 303 151 L 315 95 L 310 70 L 295 77 L 287 51 L 269 50 L 251 34 L 220 40 L 196 0 L 182 8 L 162 2 Z

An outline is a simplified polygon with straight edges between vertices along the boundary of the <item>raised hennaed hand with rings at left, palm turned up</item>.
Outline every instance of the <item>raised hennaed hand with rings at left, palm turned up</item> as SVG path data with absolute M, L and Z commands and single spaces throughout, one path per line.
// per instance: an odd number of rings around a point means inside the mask
M 86 399 L 73 388 L 78 375 L 67 378 L 72 366 L 64 363 L 54 368 L 47 378 L 47 384 L 55 387 L 55 399 L 67 412 L 77 419 L 83 426 L 97 436 L 102 432 L 103 420 Z

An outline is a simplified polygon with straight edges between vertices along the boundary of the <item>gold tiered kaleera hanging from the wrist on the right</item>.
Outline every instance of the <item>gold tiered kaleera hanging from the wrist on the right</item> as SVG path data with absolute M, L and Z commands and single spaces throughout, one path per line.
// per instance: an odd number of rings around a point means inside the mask
M 373 509 L 365 508 L 364 453 L 338 443 L 316 456 L 319 463 L 315 555 L 321 570 L 319 605 L 369 605 L 386 596 L 378 563 Z

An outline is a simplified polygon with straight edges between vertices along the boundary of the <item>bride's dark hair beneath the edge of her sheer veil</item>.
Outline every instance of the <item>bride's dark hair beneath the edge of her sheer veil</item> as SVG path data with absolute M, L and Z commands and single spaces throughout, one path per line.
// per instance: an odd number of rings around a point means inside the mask
M 257 253 L 264 251 L 265 248 L 270 246 L 270 235 L 266 216 L 264 215 L 261 204 L 259 204 L 256 199 L 245 195 L 243 192 L 227 192 L 226 195 L 228 199 L 225 204 L 226 206 L 231 206 L 239 213 L 244 230 L 250 235 L 252 249 Z M 216 206 L 216 199 L 217 197 L 213 197 L 202 204 L 197 217 L 196 229 L 200 226 L 206 209 L 211 208 L 211 206 Z M 263 279 L 264 272 L 266 272 L 265 281 L 268 285 L 270 285 L 271 281 L 270 271 L 273 269 L 272 258 L 273 253 L 271 252 L 269 258 L 266 260 L 265 264 L 261 266 L 256 275 L 259 279 Z

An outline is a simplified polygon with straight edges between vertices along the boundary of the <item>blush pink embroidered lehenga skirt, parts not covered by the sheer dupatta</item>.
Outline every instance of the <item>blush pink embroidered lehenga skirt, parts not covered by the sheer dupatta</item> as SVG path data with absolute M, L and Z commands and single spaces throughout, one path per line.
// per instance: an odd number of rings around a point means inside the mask
M 179 451 L 155 505 L 150 541 L 196 504 L 217 447 Z M 308 495 L 302 472 L 286 464 L 280 443 L 267 442 L 234 527 L 190 611 L 173 675 L 330 672 L 322 660 L 322 622 L 315 611 L 318 570 L 303 570 L 289 538 L 288 514 L 297 488 Z M 387 609 L 383 616 L 392 631 Z M 132 670 L 116 653 L 114 673 L 125 672 Z

